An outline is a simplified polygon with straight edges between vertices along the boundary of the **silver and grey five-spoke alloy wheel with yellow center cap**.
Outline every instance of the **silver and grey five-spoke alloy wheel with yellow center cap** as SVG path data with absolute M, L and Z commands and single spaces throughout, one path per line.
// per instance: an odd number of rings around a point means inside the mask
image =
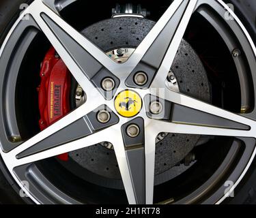
M 116 63 L 63 20 L 56 8 L 48 1 L 33 1 L 15 22 L 1 47 L 0 64 L 6 72 L 0 80 L 1 95 L 5 101 L 0 120 L 5 130 L 0 136 L 1 157 L 20 188 L 35 203 L 47 200 L 80 203 L 52 185 L 33 163 L 109 142 L 115 151 L 128 203 L 153 204 L 156 138 L 159 134 L 225 136 L 232 138 L 231 147 L 223 164 L 208 181 L 184 198 L 174 202 L 172 198 L 165 200 L 165 203 L 223 202 L 227 195 L 220 175 L 227 172 L 225 181 L 233 181 L 229 192 L 233 191 L 251 166 L 256 152 L 255 110 L 253 105 L 248 104 L 255 93 L 248 94 L 250 91 L 246 89 L 248 81 L 253 84 L 255 81 L 251 72 L 256 69 L 256 48 L 236 14 L 221 0 L 175 0 L 128 60 Z M 232 19 L 225 19 L 227 12 Z M 229 35 L 236 38 L 230 40 L 227 46 L 240 78 L 240 112 L 230 112 L 168 89 L 166 85 L 177 50 L 195 13 L 212 22 L 224 41 L 226 39 L 225 42 L 229 41 Z M 221 19 L 221 15 L 225 25 L 216 21 Z M 30 28 L 32 31 L 28 31 Z M 38 31 L 55 48 L 86 93 L 86 100 L 53 125 L 23 141 L 16 121 L 16 97 L 12 92 L 12 82 L 18 81 L 18 70 L 12 68 L 15 65 L 10 67 L 8 58 L 21 63 L 23 60 L 18 55 L 26 55 Z M 27 40 L 17 48 L 17 43 L 24 36 Z M 15 55 L 12 50 L 16 50 Z M 15 71 L 16 75 L 10 73 Z M 138 76 L 142 76 L 142 80 Z M 36 185 L 39 178 L 48 192 L 53 194 L 51 198 L 47 197 L 49 193 L 44 195 L 37 191 L 42 190 L 40 185 Z M 22 182 L 27 179 L 33 182 L 29 189 Z M 202 200 L 203 193 L 213 186 L 215 191 L 210 192 L 210 198 Z

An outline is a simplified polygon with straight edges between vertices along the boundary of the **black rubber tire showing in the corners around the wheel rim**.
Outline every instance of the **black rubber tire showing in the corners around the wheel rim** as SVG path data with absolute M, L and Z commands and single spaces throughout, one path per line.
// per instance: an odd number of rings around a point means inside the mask
M 10 27 L 20 14 L 20 5 L 29 3 L 26 0 L 2 0 L 0 2 L 0 45 L 3 43 Z M 236 14 L 251 33 L 254 42 L 256 42 L 256 2 L 251 0 L 229 0 L 227 3 L 233 3 L 236 7 Z M 256 160 L 251 165 L 250 170 L 235 191 L 235 197 L 227 199 L 229 204 L 256 204 Z M 0 204 L 24 204 L 31 201 L 27 198 L 20 198 L 18 195 L 20 189 L 10 176 L 5 164 L 0 157 Z

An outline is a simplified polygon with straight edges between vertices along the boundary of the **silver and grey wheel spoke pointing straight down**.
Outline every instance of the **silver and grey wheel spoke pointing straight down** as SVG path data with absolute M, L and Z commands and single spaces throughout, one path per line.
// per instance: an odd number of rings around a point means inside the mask
M 127 135 L 130 125 L 136 124 L 139 135 L 131 138 Z M 134 119 L 122 125 L 122 134 L 116 134 L 112 140 L 119 164 L 129 204 L 152 204 L 154 189 L 155 139 L 144 134 L 142 118 Z M 148 137 L 147 137 L 148 136 Z

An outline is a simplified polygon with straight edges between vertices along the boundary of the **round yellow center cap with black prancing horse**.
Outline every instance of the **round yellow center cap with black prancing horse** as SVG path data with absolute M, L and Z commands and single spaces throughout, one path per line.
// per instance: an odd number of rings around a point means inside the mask
M 125 90 L 115 97 L 115 110 L 121 116 L 135 116 L 141 111 L 141 107 L 141 97 L 135 91 Z

